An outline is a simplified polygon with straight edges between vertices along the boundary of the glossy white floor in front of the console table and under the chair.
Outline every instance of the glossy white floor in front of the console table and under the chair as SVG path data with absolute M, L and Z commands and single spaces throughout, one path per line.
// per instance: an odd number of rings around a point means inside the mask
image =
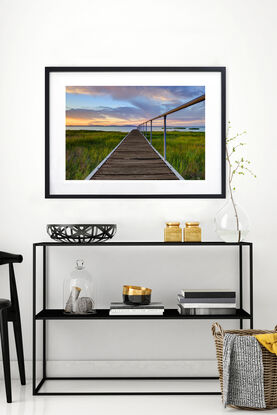
M 252 411 L 251 411 L 252 412 Z M 255 411 L 257 413 L 257 411 Z M 21 387 L 13 380 L 13 403 L 5 402 L 0 382 L 1 415 L 148 415 L 148 414 L 244 414 L 224 409 L 220 396 L 32 396 L 31 382 Z M 272 410 L 270 414 L 277 414 Z

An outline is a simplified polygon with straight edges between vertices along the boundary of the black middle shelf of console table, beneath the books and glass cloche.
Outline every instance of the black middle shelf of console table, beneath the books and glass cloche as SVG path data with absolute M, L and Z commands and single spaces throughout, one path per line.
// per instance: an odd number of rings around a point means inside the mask
M 251 319 L 251 315 L 242 309 L 236 314 L 208 314 L 200 316 L 183 316 L 177 309 L 165 309 L 162 316 L 110 316 L 109 309 L 99 309 L 96 314 L 65 314 L 62 309 L 42 310 L 36 315 L 36 320 L 223 320 L 223 319 Z

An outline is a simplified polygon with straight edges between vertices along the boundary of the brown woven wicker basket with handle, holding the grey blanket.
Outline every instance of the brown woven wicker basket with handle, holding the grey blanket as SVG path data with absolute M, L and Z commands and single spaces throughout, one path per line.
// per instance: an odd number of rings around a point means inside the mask
M 218 323 L 212 325 L 212 334 L 215 340 L 216 357 L 219 372 L 221 393 L 223 394 L 223 339 L 225 333 L 237 334 L 238 336 L 252 336 L 254 334 L 275 333 L 269 330 L 226 330 Z M 263 356 L 264 366 L 264 394 L 266 409 L 277 408 L 277 356 L 269 352 L 264 346 L 260 345 Z M 232 405 L 233 406 L 233 405 Z M 246 407 L 236 407 L 241 409 L 253 409 Z

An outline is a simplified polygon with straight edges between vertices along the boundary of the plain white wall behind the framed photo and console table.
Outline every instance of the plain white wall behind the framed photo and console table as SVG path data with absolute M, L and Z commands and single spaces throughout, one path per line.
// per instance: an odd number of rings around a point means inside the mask
M 236 131 L 248 131 L 247 155 L 257 173 L 256 180 L 242 178 L 237 191 L 252 223 L 249 239 L 255 244 L 255 326 L 272 328 L 277 323 L 276 12 L 275 0 L 1 2 L 0 249 L 24 255 L 16 273 L 27 360 L 31 359 L 32 243 L 48 240 L 47 223 L 115 222 L 117 240 L 161 240 L 168 219 L 199 219 L 204 239 L 215 240 L 213 217 L 224 203 L 45 200 L 45 66 L 227 67 L 227 119 Z M 50 300 L 54 303 L 61 298 L 63 278 L 80 255 L 70 249 L 51 251 L 50 277 L 55 283 L 51 283 Z M 120 298 L 126 282 L 150 285 L 156 299 L 172 306 L 175 292 L 188 284 L 235 287 L 234 251 L 196 252 L 194 248 L 190 255 L 189 250 L 172 248 L 164 252 L 85 250 L 88 268 L 98 280 L 100 305 Z M 4 267 L 0 277 L 0 297 L 5 297 Z M 101 288 L 102 293 L 105 290 L 102 296 Z M 209 321 L 96 322 L 79 327 L 74 323 L 72 335 L 68 323 L 58 322 L 51 326 L 49 357 L 213 359 L 211 338 L 204 337 L 209 336 L 210 325 Z M 85 335 L 83 328 L 89 329 Z M 199 330 L 203 330 L 202 337 Z

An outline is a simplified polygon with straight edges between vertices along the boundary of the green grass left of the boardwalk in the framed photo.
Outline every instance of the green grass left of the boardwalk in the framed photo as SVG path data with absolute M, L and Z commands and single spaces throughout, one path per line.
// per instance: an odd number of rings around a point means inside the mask
M 84 180 L 114 149 L 126 133 L 66 131 L 66 180 Z

